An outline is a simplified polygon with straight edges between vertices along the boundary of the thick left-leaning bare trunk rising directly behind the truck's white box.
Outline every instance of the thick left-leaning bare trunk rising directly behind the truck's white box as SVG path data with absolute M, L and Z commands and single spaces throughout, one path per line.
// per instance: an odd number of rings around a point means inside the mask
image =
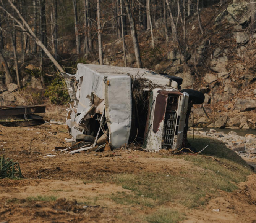
M 141 54 L 140 54 L 140 50 L 139 50 L 139 43 L 138 43 L 138 37 L 137 37 L 134 17 L 133 17 L 132 11 L 131 11 L 132 9 L 130 7 L 130 4 L 127 2 L 127 0 L 124 0 L 124 3 L 125 3 L 125 8 L 126 8 L 126 13 L 128 14 L 128 19 L 130 22 L 131 35 L 133 37 L 133 47 L 134 47 L 134 52 L 135 52 L 135 57 L 136 57 L 136 64 L 137 64 L 138 68 L 142 68 Z

